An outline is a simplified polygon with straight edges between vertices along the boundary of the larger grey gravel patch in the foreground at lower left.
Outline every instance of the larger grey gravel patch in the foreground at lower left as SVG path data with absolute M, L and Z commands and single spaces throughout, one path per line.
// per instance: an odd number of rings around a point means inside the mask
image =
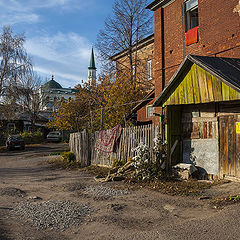
M 21 202 L 13 209 L 14 215 L 27 218 L 37 229 L 61 231 L 79 226 L 90 213 L 89 205 L 71 201 Z

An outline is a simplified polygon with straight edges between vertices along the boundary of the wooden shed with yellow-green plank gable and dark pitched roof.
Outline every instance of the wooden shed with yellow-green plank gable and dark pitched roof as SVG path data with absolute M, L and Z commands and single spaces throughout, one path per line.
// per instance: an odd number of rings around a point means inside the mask
M 188 55 L 153 106 L 164 108 L 168 166 L 240 177 L 240 59 Z

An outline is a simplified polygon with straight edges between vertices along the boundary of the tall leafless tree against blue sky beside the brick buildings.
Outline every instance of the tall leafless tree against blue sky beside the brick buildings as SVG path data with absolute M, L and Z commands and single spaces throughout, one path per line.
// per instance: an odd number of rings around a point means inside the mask
M 146 10 L 147 3 L 148 0 L 115 0 L 113 16 L 106 19 L 97 37 L 99 57 L 108 66 L 112 67 L 109 60 L 114 54 L 126 50 L 127 65 L 131 73 L 134 72 L 137 45 L 152 32 L 152 16 Z

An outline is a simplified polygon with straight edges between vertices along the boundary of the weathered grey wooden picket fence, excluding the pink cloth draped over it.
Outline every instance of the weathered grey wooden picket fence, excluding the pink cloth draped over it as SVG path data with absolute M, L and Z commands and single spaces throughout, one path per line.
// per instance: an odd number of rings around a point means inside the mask
M 158 128 L 153 124 L 137 127 L 127 127 L 122 129 L 122 134 L 117 144 L 116 151 L 105 153 L 95 148 L 98 132 L 89 134 L 86 130 L 70 135 L 70 150 L 76 155 L 81 165 L 89 166 L 111 166 L 114 159 L 127 162 L 134 156 L 132 149 L 140 142 L 145 143 L 150 149 L 150 157 L 154 160 L 153 139 L 158 132 Z

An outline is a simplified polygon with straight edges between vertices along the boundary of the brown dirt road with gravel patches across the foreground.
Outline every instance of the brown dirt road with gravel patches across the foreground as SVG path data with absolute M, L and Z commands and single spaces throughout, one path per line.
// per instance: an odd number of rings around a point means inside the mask
M 0 153 L 0 239 L 240 239 L 239 204 L 97 183 L 82 171 L 51 169 L 62 144 Z M 227 186 L 226 186 L 227 187 Z

